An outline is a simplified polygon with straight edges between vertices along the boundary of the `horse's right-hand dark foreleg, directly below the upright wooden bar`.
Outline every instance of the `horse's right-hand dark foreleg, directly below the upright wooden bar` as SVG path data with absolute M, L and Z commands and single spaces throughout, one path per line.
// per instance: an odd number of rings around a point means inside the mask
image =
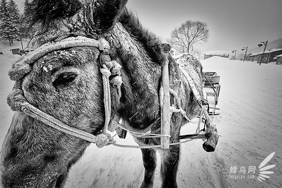
M 180 154 L 180 145 L 170 145 L 170 149 L 160 150 L 162 159 L 161 178 L 162 188 L 177 188 L 176 175 L 178 170 L 178 161 Z

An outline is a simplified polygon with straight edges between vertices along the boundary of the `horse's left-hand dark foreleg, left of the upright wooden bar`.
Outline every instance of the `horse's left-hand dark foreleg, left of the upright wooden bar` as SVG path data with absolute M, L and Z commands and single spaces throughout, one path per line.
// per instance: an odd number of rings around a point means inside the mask
M 140 188 L 152 188 L 154 183 L 154 172 L 156 169 L 156 151 L 154 149 L 141 149 L 143 165 L 145 168 L 144 180 Z

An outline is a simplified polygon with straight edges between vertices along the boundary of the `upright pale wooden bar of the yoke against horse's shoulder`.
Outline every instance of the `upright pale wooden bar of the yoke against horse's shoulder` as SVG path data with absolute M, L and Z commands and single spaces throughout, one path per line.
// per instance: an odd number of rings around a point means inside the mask
M 170 135 L 170 82 L 169 82 L 169 70 L 168 70 L 168 55 L 170 53 L 170 44 L 162 44 L 164 52 L 166 54 L 166 60 L 162 70 L 162 83 L 164 97 L 163 107 L 161 108 L 161 134 Z M 161 137 L 161 149 L 170 148 L 170 137 Z

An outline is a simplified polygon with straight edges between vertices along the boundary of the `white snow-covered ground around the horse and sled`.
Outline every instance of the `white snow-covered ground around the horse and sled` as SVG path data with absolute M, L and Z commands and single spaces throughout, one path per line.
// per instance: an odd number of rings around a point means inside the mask
M 0 146 L 8 131 L 13 112 L 6 103 L 13 81 L 7 72 L 18 55 L 0 46 Z M 220 75 L 218 107 L 221 115 L 214 118 L 219 138 L 217 149 L 206 153 L 202 140 L 181 144 L 181 159 L 177 176 L 178 186 L 187 187 L 282 187 L 282 66 L 257 64 L 212 57 L 202 60 L 204 71 Z M 187 124 L 182 133 L 194 133 L 196 125 Z M 125 140 L 115 137 L 119 144 L 136 144 L 132 136 Z M 276 165 L 269 171 L 270 178 L 260 182 L 259 165 L 271 153 L 274 157 L 267 165 Z M 235 172 L 234 166 L 237 167 Z M 250 166 L 255 171 L 248 172 Z M 266 166 L 266 165 L 265 165 Z M 239 172 L 245 167 L 246 172 Z M 234 173 L 230 173 L 230 168 Z M 155 172 L 154 187 L 160 187 L 160 159 Z M 241 169 L 243 170 L 243 168 Z M 232 179 L 230 175 L 238 175 Z M 241 178 L 244 175 L 245 179 Z M 251 179 L 248 179 L 249 175 Z M 268 175 L 268 174 L 267 174 Z M 107 146 L 98 149 L 91 144 L 80 161 L 72 167 L 65 187 L 139 187 L 144 176 L 140 149 Z

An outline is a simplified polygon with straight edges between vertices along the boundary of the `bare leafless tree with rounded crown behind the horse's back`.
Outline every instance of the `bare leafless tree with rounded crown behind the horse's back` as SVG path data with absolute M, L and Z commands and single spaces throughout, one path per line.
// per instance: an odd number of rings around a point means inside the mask
M 209 35 L 206 23 L 188 20 L 171 32 L 171 42 L 181 53 L 192 53 L 196 44 L 207 42 Z

